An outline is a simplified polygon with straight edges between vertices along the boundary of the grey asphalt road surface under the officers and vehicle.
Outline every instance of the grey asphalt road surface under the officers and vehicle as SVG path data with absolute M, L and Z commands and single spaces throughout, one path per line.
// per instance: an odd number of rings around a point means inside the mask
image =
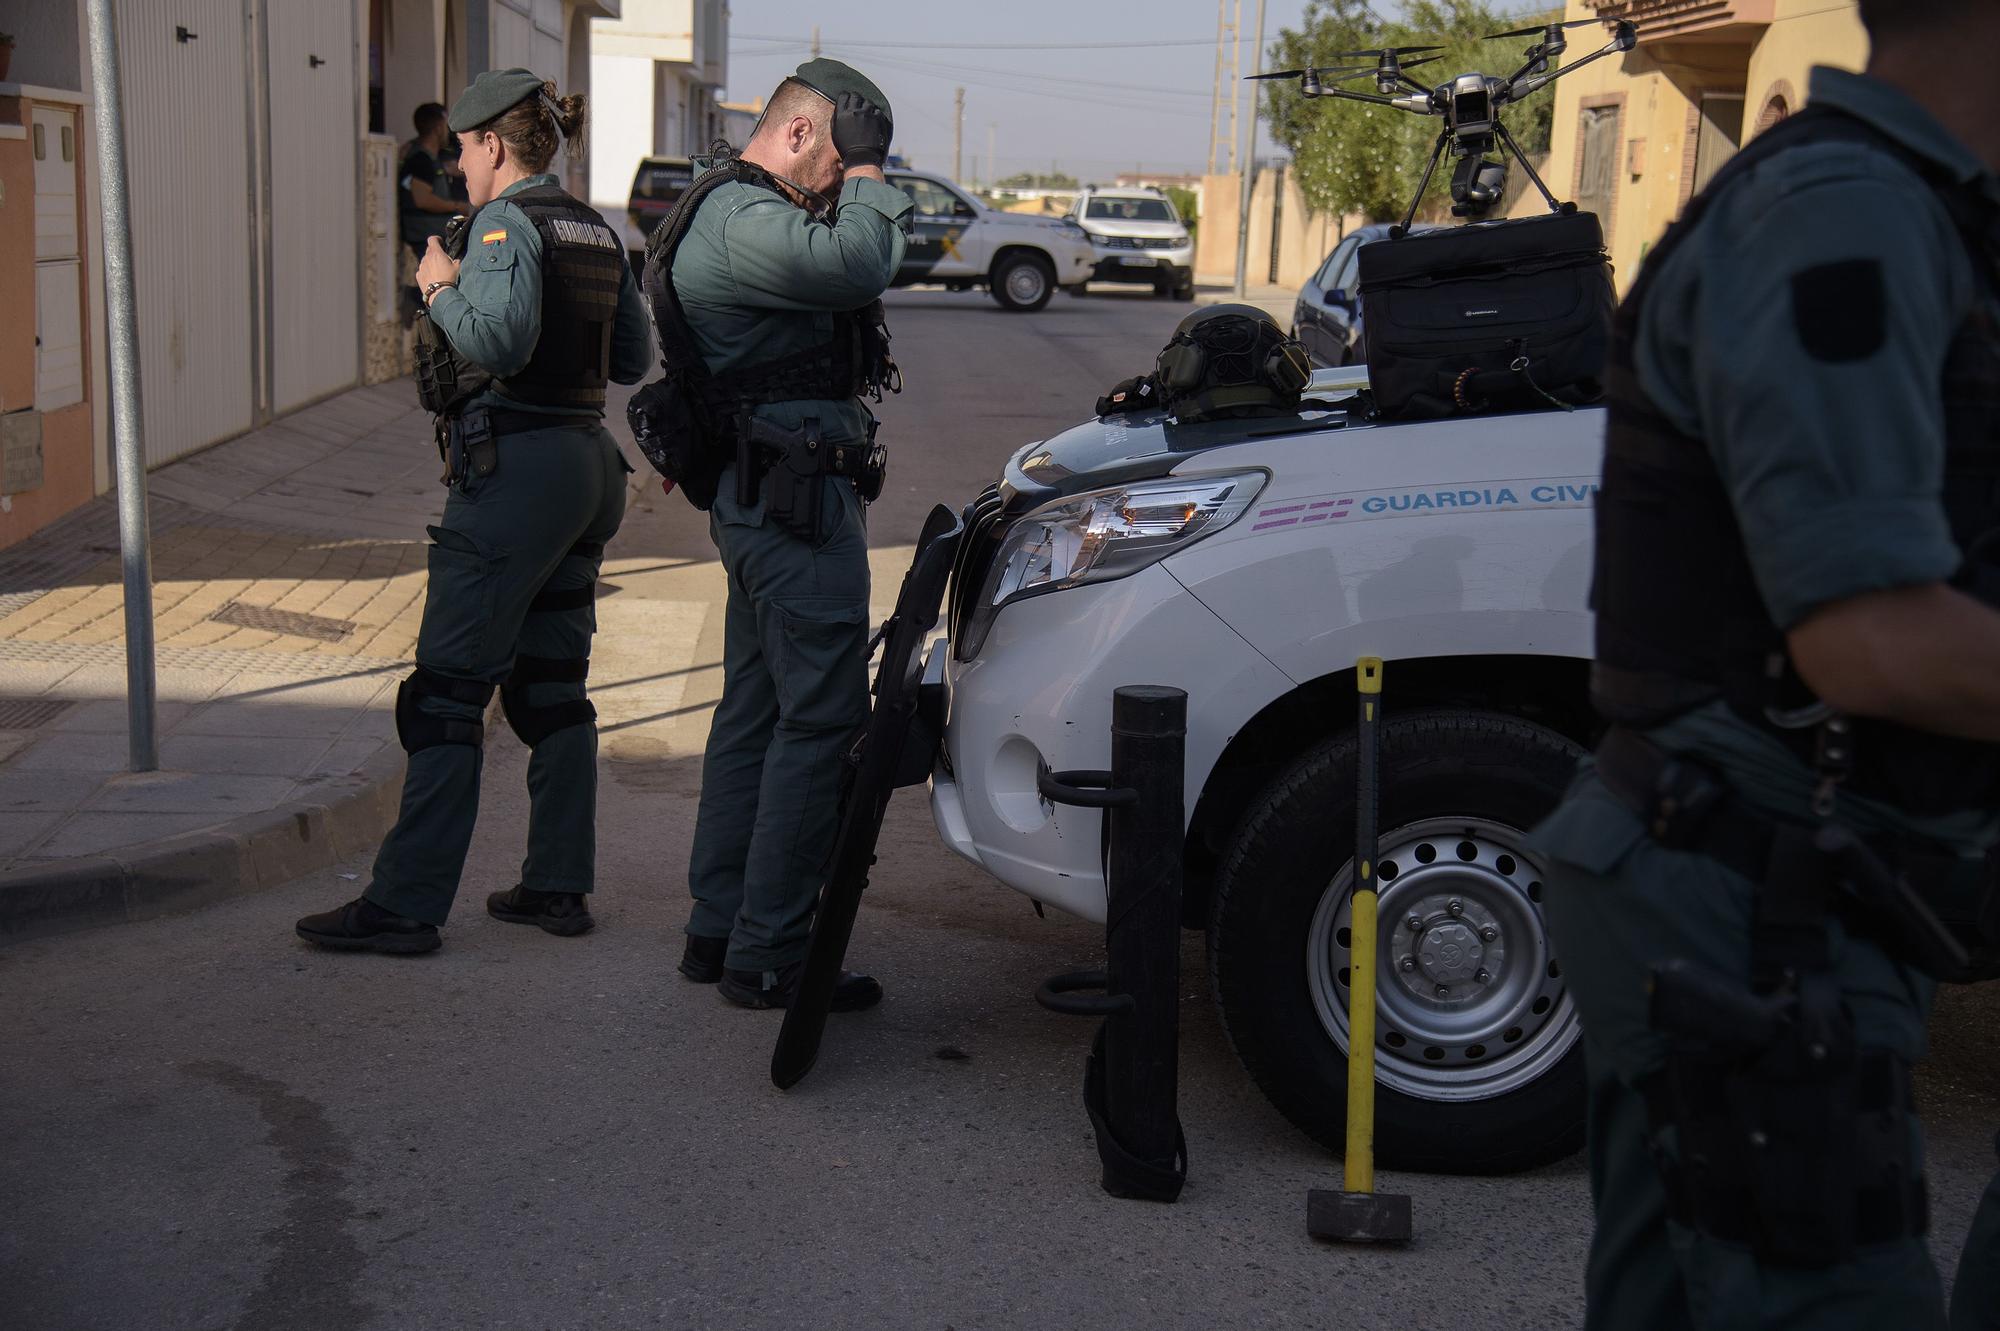
M 1186 306 L 890 298 L 908 392 L 882 408 L 878 602 L 924 512 L 1150 366 Z M 292 937 L 358 859 L 202 913 L 0 951 L 0 1327 L 1568 1327 L 1580 1161 L 1512 1179 L 1384 1175 L 1408 1251 L 1304 1233 L 1338 1161 L 1236 1065 L 1182 959 L 1172 1207 L 1112 1201 L 1078 1099 L 1088 1027 L 1040 1011 L 1096 963 L 1050 915 L 890 809 L 852 957 L 888 999 L 836 1017 L 796 1091 L 776 1013 L 674 973 L 698 755 L 720 687 L 706 528 L 636 488 L 612 546 L 598 929 L 488 919 L 516 881 L 526 753 L 500 731 L 446 947 L 350 957 Z M 1940 1005 L 1924 1075 L 1936 1247 L 1992 1167 L 1990 989 Z

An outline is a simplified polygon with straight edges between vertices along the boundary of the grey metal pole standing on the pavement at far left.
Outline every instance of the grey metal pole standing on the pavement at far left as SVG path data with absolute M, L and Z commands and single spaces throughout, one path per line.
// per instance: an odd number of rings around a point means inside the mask
M 104 192 L 104 322 L 112 368 L 112 452 L 118 460 L 118 548 L 126 602 L 126 741 L 132 771 L 156 771 L 158 679 L 152 652 L 152 534 L 146 524 L 146 440 L 138 394 L 138 302 L 132 282 L 132 188 L 126 180 L 124 88 L 112 0 L 90 0 L 90 82 Z

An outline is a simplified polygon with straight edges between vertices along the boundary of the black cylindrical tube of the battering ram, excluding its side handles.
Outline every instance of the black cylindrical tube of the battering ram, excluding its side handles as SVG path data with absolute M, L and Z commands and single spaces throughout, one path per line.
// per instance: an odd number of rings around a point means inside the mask
M 1180 1141 L 1180 863 L 1188 695 L 1158 685 L 1112 693 L 1112 781 L 1136 799 L 1110 809 L 1104 917 L 1108 993 L 1132 1011 L 1104 1023 L 1104 1115 L 1118 1143 L 1170 1165 Z

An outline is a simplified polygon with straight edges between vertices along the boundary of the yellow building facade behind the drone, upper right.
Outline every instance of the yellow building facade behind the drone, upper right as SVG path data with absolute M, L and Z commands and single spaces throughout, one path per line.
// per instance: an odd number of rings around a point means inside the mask
M 1736 148 L 1804 104 L 1812 66 L 1868 60 L 1854 0 L 1568 0 L 1566 18 L 1638 24 L 1638 48 L 1554 86 L 1544 170 L 1556 198 L 1604 222 L 1620 290 Z M 1578 28 L 1568 58 L 1598 46 Z M 1538 210 L 1528 190 L 1512 212 Z

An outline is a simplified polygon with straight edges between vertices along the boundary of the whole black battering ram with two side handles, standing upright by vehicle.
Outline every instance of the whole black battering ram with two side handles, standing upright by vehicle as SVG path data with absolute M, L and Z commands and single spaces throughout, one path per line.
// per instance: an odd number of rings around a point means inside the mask
M 1042 983 L 1050 1011 L 1104 1017 L 1084 1061 L 1084 1109 L 1104 1191 L 1174 1201 L 1188 1179 L 1180 1131 L 1180 851 L 1186 837 L 1188 695 L 1112 693 L 1112 769 L 1044 771 L 1046 799 L 1106 809 L 1104 971 Z M 1082 991 L 1102 989 L 1100 997 Z

